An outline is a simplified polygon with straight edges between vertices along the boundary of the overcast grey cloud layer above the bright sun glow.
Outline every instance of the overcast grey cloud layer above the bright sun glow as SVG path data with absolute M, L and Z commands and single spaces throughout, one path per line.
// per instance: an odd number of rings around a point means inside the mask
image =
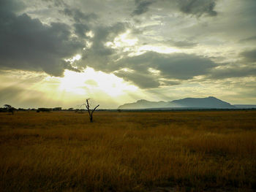
M 252 102 L 255 10 L 255 0 L 1 0 L 0 70 L 91 67 L 157 95 L 218 83 Z

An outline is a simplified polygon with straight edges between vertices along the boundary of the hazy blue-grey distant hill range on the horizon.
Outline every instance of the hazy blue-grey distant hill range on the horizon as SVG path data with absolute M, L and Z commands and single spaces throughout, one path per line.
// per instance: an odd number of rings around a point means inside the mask
M 138 110 L 138 109 L 162 109 L 162 108 L 206 108 L 206 109 L 233 109 L 235 106 L 217 99 L 213 96 L 206 98 L 186 98 L 173 101 L 146 101 L 138 100 L 135 103 L 123 104 L 118 109 Z

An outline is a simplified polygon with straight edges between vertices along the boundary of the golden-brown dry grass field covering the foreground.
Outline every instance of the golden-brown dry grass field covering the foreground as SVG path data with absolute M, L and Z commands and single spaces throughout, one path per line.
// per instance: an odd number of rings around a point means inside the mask
M 256 111 L 0 113 L 0 191 L 255 191 L 255 138 Z

